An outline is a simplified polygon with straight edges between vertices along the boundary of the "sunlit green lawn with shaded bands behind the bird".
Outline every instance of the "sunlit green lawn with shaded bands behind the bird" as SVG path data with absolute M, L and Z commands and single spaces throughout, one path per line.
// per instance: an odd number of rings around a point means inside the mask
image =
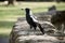
M 25 13 L 21 9 L 30 8 L 34 13 L 38 13 L 47 12 L 51 5 L 56 5 L 60 11 L 65 10 L 65 3 L 63 2 L 18 2 L 15 6 L 0 5 L 0 37 L 9 37 L 17 17 L 25 17 Z

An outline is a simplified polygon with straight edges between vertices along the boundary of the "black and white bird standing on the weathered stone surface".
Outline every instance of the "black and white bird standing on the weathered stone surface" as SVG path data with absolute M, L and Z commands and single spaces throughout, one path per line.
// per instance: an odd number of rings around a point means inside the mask
M 28 25 L 30 26 L 30 29 L 34 28 L 36 30 L 36 28 L 38 26 L 40 31 L 44 34 L 43 28 L 38 23 L 38 20 L 35 18 L 35 16 L 34 16 L 32 12 L 30 11 L 30 9 L 26 8 L 25 12 L 26 12 L 26 20 L 27 20 Z

